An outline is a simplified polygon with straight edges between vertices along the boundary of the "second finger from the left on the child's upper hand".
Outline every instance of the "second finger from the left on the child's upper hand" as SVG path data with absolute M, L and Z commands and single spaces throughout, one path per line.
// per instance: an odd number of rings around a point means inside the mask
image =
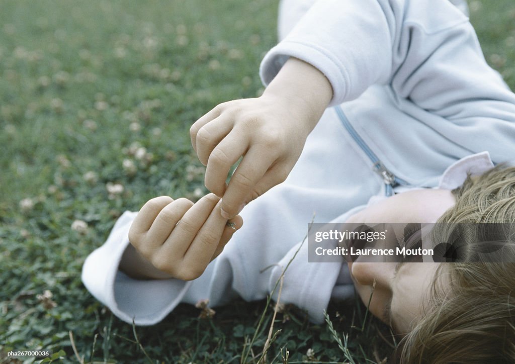
M 230 133 L 234 123 L 231 116 L 222 114 L 197 132 L 197 155 L 200 163 L 208 165 L 213 149 Z

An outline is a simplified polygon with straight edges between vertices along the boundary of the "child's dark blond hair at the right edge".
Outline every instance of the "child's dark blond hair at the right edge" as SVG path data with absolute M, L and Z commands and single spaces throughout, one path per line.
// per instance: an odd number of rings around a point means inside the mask
M 493 252 L 499 260 L 490 262 L 515 262 L 515 167 L 501 165 L 482 176 L 469 176 L 452 192 L 456 204 L 438 222 L 504 223 L 504 229 L 490 231 L 495 236 L 486 236 L 499 241 L 501 233 L 503 240 L 503 248 Z M 396 360 L 514 363 L 515 263 L 444 263 L 436 276 L 441 274 L 449 275 L 450 286 L 435 279 L 425 315 L 402 339 Z

